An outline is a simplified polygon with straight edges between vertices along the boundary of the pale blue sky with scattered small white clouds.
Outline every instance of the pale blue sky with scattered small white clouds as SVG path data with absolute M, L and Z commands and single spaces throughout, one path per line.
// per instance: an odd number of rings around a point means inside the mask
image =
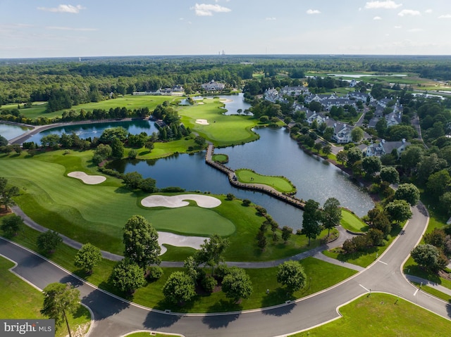
M 451 55 L 451 0 L 0 0 L 0 58 Z

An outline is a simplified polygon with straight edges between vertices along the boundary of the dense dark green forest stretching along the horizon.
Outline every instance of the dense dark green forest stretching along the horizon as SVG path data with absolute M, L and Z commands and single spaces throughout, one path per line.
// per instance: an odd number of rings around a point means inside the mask
M 256 74 L 266 78 L 286 74 L 291 79 L 299 79 L 309 71 L 409 72 L 429 79 L 451 80 L 451 64 L 444 56 L 4 59 L 0 60 L 0 105 L 48 101 L 49 110 L 56 111 L 133 91 L 153 91 L 181 84 L 190 94 L 211 80 L 239 88 Z

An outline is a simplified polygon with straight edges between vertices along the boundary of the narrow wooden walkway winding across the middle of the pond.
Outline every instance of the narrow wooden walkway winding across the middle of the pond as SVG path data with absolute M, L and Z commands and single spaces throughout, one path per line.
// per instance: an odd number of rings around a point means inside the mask
M 276 189 L 273 189 L 273 187 L 271 186 L 265 184 L 247 184 L 239 182 L 235 174 L 235 171 L 233 171 L 230 167 L 227 167 L 226 165 L 216 163 L 213 160 L 213 154 L 214 154 L 214 146 L 212 144 L 209 144 L 208 148 L 206 149 L 205 162 L 211 167 L 216 168 L 216 170 L 220 170 L 221 172 L 227 174 L 228 181 L 233 186 L 236 186 L 240 189 L 249 189 L 252 191 L 263 192 L 270 196 L 273 196 L 274 198 L 278 198 L 279 200 L 285 203 L 289 203 L 290 205 L 293 205 L 296 208 L 300 208 L 301 210 L 304 209 L 304 201 L 296 198 L 295 196 L 290 196 L 288 194 L 279 192 Z

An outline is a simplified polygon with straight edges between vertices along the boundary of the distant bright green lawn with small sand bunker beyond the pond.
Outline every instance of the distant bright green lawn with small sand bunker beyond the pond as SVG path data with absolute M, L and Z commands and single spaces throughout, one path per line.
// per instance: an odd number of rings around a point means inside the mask
M 258 123 L 252 116 L 223 115 L 223 103 L 218 98 L 204 98 L 204 104 L 184 106 L 178 110 L 181 122 L 200 136 L 209 139 L 215 146 L 230 146 L 254 141 L 259 136 L 252 132 Z M 200 125 L 196 120 L 203 119 L 209 125 Z

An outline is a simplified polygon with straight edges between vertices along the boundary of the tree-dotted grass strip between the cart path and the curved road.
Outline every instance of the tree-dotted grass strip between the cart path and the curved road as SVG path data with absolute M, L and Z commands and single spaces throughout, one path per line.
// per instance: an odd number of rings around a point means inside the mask
M 37 251 L 36 239 L 38 235 L 39 233 L 34 229 L 24 227 L 23 231 L 20 231 L 20 234 L 14 236 L 11 240 Z M 191 255 L 190 253 L 194 253 L 194 250 L 189 248 L 186 248 L 186 250 L 183 250 L 182 248 L 178 249 L 180 249 L 181 253 L 185 254 L 184 258 Z M 171 250 L 168 250 L 168 253 L 165 253 L 165 255 L 173 254 L 170 252 Z M 247 310 L 258 307 L 268 307 L 271 305 L 284 303 L 285 300 L 288 299 L 294 300 L 295 298 L 301 298 L 310 295 L 311 293 L 316 293 L 317 291 L 333 286 L 333 284 L 337 284 L 338 282 L 347 279 L 356 273 L 352 269 L 332 265 L 330 263 L 317 260 L 314 257 L 307 257 L 300 262 L 307 274 L 306 286 L 304 289 L 297 291 L 289 298 L 286 295 L 286 291 L 280 288 L 280 285 L 277 283 L 276 267 L 246 269 L 247 274 L 251 277 L 254 293 L 247 300 L 242 300 L 240 305 L 235 305 L 235 303 L 230 302 L 230 300 L 228 300 L 223 293 L 218 292 L 211 295 L 198 295 L 192 303 L 187 303 L 185 307 L 179 307 L 178 305 L 166 303 L 163 298 L 162 288 L 166 283 L 168 276 L 172 272 L 183 270 L 183 268 L 163 268 L 164 274 L 161 279 L 148 283 L 143 288 L 138 289 L 133 295 L 133 298 L 129 298 L 128 295 L 117 291 L 108 282 L 109 275 L 111 274 L 116 262 L 103 259 L 99 265 L 94 267 L 93 273 L 87 276 L 85 272 L 73 265 L 76 253 L 77 250 L 74 248 L 61 244 L 58 248 L 56 248 L 54 253 L 47 254 L 46 257 L 56 262 L 58 265 L 68 269 L 70 272 L 87 279 L 87 281 L 92 284 L 104 288 L 106 291 L 126 297 L 135 303 L 139 303 L 147 307 L 155 307 L 161 310 L 171 309 L 178 312 L 226 312 L 230 310 Z M 178 254 L 178 257 L 180 257 L 180 254 Z M 210 268 L 206 269 L 207 272 L 209 272 L 209 270 Z M 270 293 L 266 294 L 266 289 L 268 288 L 270 289 Z

